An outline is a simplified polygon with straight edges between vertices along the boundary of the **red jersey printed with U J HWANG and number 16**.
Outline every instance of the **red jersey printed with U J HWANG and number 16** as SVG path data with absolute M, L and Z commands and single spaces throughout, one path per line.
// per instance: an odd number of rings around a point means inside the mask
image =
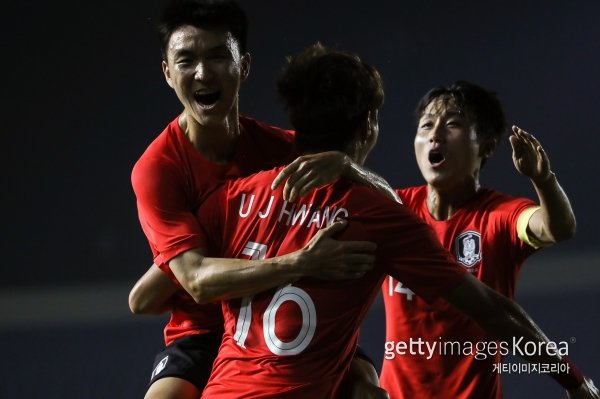
M 223 342 L 202 398 L 331 399 L 386 274 L 435 300 L 466 273 L 431 227 L 380 193 L 339 180 L 288 203 L 281 189 L 270 188 L 279 171 L 228 181 L 202 204 L 198 217 L 212 255 L 287 254 L 304 247 L 320 228 L 347 219 L 339 238 L 377 243 L 376 266 L 360 279 L 303 278 L 224 301 Z

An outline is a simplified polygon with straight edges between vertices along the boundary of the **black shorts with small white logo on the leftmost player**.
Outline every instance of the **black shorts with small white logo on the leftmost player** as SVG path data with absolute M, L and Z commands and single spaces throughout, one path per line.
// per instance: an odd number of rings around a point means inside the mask
M 208 382 L 222 336 L 222 333 L 194 334 L 173 341 L 156 355 L 149 385 L 161 378 L 177 377 L 202 391 Z

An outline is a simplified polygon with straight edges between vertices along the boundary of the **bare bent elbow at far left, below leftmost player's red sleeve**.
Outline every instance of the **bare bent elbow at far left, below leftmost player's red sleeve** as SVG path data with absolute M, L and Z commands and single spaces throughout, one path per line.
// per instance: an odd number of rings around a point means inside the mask
M 135 314 L 163 314 L 171 310 L 171 296 L 179 287 L 158 266 L 152 265 L 129 292 L 129 309 Z

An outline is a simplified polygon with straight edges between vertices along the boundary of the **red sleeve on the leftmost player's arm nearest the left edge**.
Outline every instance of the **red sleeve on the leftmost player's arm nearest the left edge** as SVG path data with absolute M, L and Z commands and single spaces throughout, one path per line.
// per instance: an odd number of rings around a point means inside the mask
M 160 158 L 140 159 L 131 181 L 142 229 L 163 271 L 177 255 L 202 247 L 204 235 L 187 209 L 185 182 L 175 165 Z

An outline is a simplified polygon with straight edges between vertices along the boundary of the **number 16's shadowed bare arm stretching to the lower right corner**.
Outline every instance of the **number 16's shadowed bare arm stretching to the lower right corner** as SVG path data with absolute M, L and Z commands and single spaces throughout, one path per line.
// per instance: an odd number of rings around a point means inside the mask
M 546 335 L 519 305 L 481 283 L 471 274 L 467 273 L 458 286 L 444 298 L 501 342 L 513 344 L 515 340 L 519 342 L 523 337 L 522 344 L 540 343 L 537 346 L 540 350 L 536 350 L 533 355 L 523 351 L 522 357 L 526 360 L 542 364 L 561 364 L 567 361 L 558 351 L 551 350 Z M 510 347 L 513 348 L 512 345 Z M 521 355 L 518 351 L 516 354 Z M 569 374 L 550 374 L 567 389 L 569 397 L 600 398 L 598 390 L 595 387 L 592 389 L 591 380 L 584 380 L 574 364 L 569 363 L 569 366 Z

